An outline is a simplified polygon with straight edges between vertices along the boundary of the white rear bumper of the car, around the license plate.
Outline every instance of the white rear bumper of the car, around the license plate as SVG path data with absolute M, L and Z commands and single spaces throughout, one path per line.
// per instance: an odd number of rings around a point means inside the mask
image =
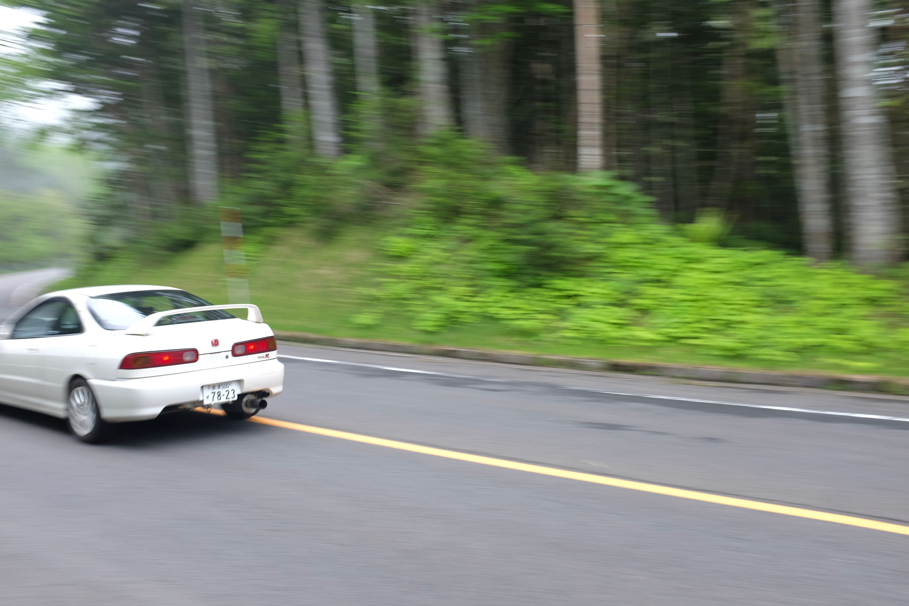
M 144 379 L 92 379 L 88 384 L 95 392 L 102 418 L 126 422 L 154 419 L 175 404 L 201 404 L 203 385 L 228 381 L 239 381 L 242 393 L 275 396 L 284 391 L 284 364 L 267 360 Z

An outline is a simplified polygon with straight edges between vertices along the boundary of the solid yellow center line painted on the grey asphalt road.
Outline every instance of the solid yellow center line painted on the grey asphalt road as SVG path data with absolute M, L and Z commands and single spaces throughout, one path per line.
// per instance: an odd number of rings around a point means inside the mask
M 213 410 L 216 414 L 224 412 Z M 858 526 L 859 528 L 868 528 L 874 531 L 894 532 L 895 534 L 909 535 L 909 526 L 894 524 L 891 522 L 879 522 L 877 520 L 868 520 L 858 518 L 852 515 L 843 515 L 841 513 L 818 512 L 801 507 L 790 507 L 788 505 L 777 505 L 762 501 L 752 501 L 750 499 L 737 499 L 735 497 L 724 497 L 719 494 L 710 492 L 688 491 L 683 488 L 673 488 L 671 486 L 662 486 L 660 484 L 651 484 L 647 482 L 634 482 L 632 480 L 622 480 L 621 478 L 611 478 L 594 473 L 571 472 L 566 469 L 556 467 L 545 467 L 544 465 L 534 465 L 531 463 L 522 463 L 508 461 L 506 459 L 496 459 L 494 457 L 484 457 L 479 454 L 469 454 L 467 452 L 448 451 L 444 448 L 433 448 L 431 446 L 421 446 L 410 442 L 398 442 L 396 440 L 385 440 L 385 438 L 375 438 L 360 433 L 339 432 L 334 429 L 325 429 L 325 427 L 314 427 L 313 425 L 304 425 L 302 423 L 278 421 L 267 417 L 252 417 L 251 422 L 261 425 L 271 425 L 272 427 L 282 427 L 284 429 L 294 430 L 295 432 L 315 433 L 316 435 L 325 435 L 330 438 L 340 440 L 349 440 L 350 442 L 363 442 L 373 444 L 374 446 L 384 446 L 385 448 L 394 448 L 398 451 L 419 452 L 420 454 L 429 454 L 435 457 L 445 459 L 454 459 L 455 461 L 465 461 L 489 465 L 491 467 L 501 467 L 516 472 L 537 473 L 539 475 L 550 475 L 565 480 L 576 480 L 578 482 L 590 482 L 592 484 L 602 484 L 604 486 L 613 486 L 614 488 L 624 488 L 631 491 L 652 492 L 654 494 L 663 494 L 668 497 L 677 497 L 679 499 L 688 499 L 690 501 L 702 501 L 715 503 L 717 505 L 727 505 L 729 507 L 738 507 L 740 509 L 750 509 L 757 512 L 779 513 L 781 515 L 790 515 L 796 518 L 807 518 L 808 520 L 819 520 L 821 522 L 833 522 L 834 524 L 845 524 L 847 526 Z

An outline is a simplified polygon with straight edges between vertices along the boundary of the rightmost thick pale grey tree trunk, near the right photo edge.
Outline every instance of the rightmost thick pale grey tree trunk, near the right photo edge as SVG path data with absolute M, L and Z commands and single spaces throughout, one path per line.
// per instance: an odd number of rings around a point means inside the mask
M 835 0 L 846 204 L 852 226 L 852 260 L 864 268 L 902 256 L 900 212 L 884 113 L 871 82 L 874 30 L 868 0 Z

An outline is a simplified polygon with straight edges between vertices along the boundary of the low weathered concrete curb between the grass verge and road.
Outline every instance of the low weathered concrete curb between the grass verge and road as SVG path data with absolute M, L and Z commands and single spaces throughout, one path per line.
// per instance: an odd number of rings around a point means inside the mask
M 746 371 L 714 366 L 684 366 L 596 358 L 571 358 L 557 355 L 534 355 L 531 353 L 496 352 L 491 350 L 464 349 L 445 345 L 420 345 L 415 343 L 392 343 L 368 339 L 326 337 L 321 334 L 290 333 L 275 331 L 280 341 L 328 345 L 347 349 L 362 349 L 373 352 L 411 353 L 433 355 L 460 360 L 521 364 L 524 366 L 549 366 L 572 368 L 582 371 L 611 373 L 649 374 L 653 376 L 692 379 L 710 382 L 753 383 L 758 385 L 780 385 L 783 387 L 811 387 L 850 392 L 877 392 L 909 395 L 909 380 L 893 377 L 863 376 L 854 374 L 823 373 L 774 373 L 767 371 Z

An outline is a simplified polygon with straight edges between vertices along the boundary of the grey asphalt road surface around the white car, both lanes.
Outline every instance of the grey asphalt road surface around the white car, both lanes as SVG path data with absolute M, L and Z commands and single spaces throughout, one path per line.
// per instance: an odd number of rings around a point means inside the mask
M 909 422 L 868 418 L 909 418 L 902 399 L 279 353 L 308 360 L 283 359 L 270 419 L 909 525 Z M 0 406 L 0 511 L 4 606 L 909 596 L 906 535 L 198 412 L 88 446 Z

